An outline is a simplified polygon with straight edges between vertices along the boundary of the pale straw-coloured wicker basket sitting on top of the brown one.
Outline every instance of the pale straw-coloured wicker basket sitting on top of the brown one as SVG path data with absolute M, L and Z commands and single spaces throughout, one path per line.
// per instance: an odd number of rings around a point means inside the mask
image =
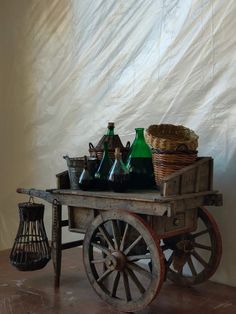
M 198 146 L 198 135 L 182 125 L 150 125 L 145 138 L 152 148 L 165 151 L 195 151 Z

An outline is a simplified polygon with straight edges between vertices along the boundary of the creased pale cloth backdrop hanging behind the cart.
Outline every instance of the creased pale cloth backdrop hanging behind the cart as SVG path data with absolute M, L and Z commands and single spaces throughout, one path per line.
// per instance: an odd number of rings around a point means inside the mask
M 124 143 L 135 127 L 183 124 L 224 194 L 213 279 L 236 286 L 235 16 L 234 0 L 1 0 L 0 247 L 26 200 L 15 189 L 55 187 L 62 156 L 86 154 L 108 121 Z M 45 221 L 50 233 L 50 210 Z

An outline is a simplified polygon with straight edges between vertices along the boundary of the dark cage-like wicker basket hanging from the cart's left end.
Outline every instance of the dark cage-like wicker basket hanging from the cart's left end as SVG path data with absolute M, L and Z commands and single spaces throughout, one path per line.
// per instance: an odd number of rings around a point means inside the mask
M 10 262 L 21 271 L 41 269 L 51 258 L 43 223 L 44 205 L 33 203 L 30 199 L 28 203 L 18 204 L 18 207 L 20 224 Z

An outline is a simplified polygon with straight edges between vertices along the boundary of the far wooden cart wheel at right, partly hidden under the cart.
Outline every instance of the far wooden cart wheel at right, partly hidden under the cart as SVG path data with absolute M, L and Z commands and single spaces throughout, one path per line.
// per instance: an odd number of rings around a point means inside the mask
M 222 254 L 218 226 L 205 208 L 198 208 L 198 229 L 163 240 L 167 278 L 191 286 L 209 279 L 216 271 Z

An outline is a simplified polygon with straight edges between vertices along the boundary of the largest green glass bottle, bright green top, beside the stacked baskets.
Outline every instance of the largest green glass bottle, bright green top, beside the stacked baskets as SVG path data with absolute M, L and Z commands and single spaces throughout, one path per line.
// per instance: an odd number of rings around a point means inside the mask
M 126 166 L 130 175 L 130 187 L 146 189 L 154 186 L 152 152 L 144 138 L 144 129 L 136 128 L 136 137 L 131 146 Z

